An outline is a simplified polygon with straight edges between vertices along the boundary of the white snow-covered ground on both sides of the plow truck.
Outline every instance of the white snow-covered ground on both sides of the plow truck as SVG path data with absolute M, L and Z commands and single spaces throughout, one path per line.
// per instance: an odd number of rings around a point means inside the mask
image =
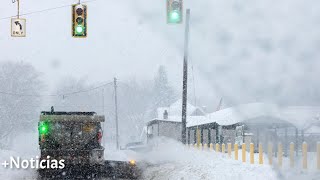
M 235 161 L 233 157 L 229 158 L 227 154 L 200 151 L 195 148 L 185 147 L 171 140 L 161 139 L 157 140 L 155 144 L 152 151 L 145 153 L 114 151 L 110 150 L 111 145 L 107 145 L 105 157 L 110 160 L 136 159 L 137 162 L 148 164 L 144 168 L 142 178 L 145 180 L 320 179 L 319 172 L 312 168 L 308 171 L 289 170 L 286 165 L 287 160 L 284 160 L 282 170 L 278 171 L 276 163 L 274 166 L 267 165 L 266 155 L 264 156 L 265 165 L 258 165 L 257 156 L 255 164 L 251 165 L 241 162 L 241 151 L 239 152 L 239 160 Z M 36 135 L 26 134 L 19 136 L 12 150 L 0 151 L 0 161 L 8 160 L 10 156 L 20 156 L 22 158 L 35 157 L 39 154 L 37 148 Z M 249 154 L 247 154 L 248 160 Z M 274 162 L 276 162 L 276 159 L 274 159 Z M 11 170 L 0 166 L 0 179 L 31 180 L 35 178 L 35 170 Z

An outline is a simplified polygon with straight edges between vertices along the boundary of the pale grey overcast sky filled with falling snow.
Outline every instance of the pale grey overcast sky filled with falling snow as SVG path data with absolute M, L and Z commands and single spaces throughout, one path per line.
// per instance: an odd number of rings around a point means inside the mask
M 21 12 L 72 4 L 21 0 Z M 50 79 L 92 82 L 151 79 L 166 65 L 180 93 L 182 25 L 167 25 L 164 0 L 97 0 L 88 5 L 88 38 L 71 37 L 71 7 L 27 15 L 27 37 L 10 37 L 0 20 L 0 61 L 27 61 Z M 201 104 L 254 101 L 320 105 L 319 0 L 185 0 L 191 9 L 190 90 Z M 16 14 L 2 0 L 0 19 Z M 193 72 L 193 73 L 192 73 Z M 193 97 L 191 97 L 193 98 Z

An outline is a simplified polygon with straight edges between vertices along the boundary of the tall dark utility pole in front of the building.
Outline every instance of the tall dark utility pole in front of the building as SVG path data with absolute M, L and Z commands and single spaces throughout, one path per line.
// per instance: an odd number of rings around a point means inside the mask
M 183 85 L 182 85 L 182 143 L 186 144 L 187 132 L 187 93 L 188 93 L 188 45 L 189 45 L 189 21 L 190 9 L 186 13 L 186 29 L 184 35 L 184 57 L 183 57 Z

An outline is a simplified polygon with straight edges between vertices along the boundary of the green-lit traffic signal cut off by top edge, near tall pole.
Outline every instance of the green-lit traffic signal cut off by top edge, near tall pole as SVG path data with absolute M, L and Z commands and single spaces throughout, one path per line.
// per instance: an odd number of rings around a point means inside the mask
M 167 0 L 167 23 L 182 23 L 183 8 L 182 0 Z

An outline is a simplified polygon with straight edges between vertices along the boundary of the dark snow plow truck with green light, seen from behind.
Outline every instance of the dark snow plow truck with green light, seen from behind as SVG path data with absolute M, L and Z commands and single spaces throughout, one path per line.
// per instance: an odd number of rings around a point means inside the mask
M 38 124 L 40 162 L 56 160 L 61 166 L 39 168 L 38 179 L 138 179 L 134 160 L 104 159 L 101 123 L 95 112 L 43 111 Z

